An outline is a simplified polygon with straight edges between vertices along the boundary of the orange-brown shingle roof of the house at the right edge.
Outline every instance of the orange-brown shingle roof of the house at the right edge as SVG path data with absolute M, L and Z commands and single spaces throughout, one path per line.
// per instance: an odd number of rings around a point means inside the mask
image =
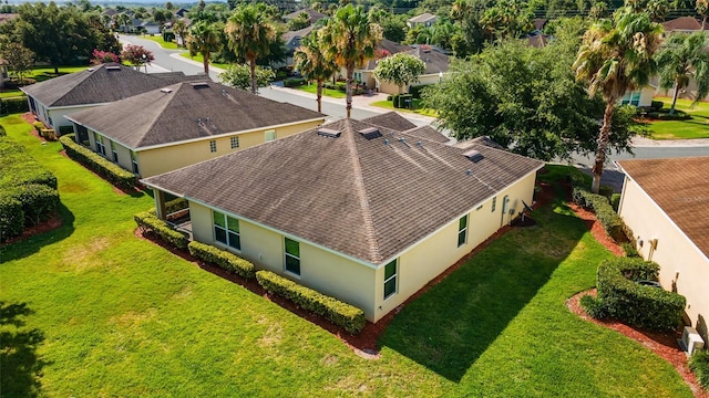
M 623 170 L 709 256 L 709 156 L 618 161 Z

